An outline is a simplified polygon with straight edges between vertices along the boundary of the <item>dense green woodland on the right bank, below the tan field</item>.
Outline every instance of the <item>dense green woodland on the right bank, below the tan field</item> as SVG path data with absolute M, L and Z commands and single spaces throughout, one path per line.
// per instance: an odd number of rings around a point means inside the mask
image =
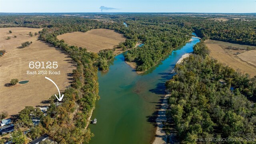
M 176 75 L 166 82 L 167 115 L 177 140 L 256 138 L 256 77 L 218 63 L 208 52 L 203 42 L 196 44 L 195 55 L 176 65 Z

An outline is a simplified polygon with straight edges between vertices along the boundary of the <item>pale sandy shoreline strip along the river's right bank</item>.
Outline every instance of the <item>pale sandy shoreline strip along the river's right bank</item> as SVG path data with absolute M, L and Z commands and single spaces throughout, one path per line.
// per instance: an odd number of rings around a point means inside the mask
M 190 56 L 191 53 L 186 53 L 183 54 L 182 57 L 178 60 L 178 62 L 176 64 L 180 64 L 182 63 L 182 61 L 184 60 L 184 58 L 187 58 L 188 56 Z M 175 70 L 172 70 L 172 72 L 175 72 Z M 166 122 L 166 110 L 168 109 L 168 98 L 170 97 L 170 94 L 167 93 L 164 98 L 163 98 L 163 102 L 161 104 L 161 109 L 158 110 L 158 115 L 156 118 L 156 135 L 154 136 L 154 141 L 152 142 L 152 144 L 166 144 L 167 143 L 167 135 L 165 133 L 165 131 L 163 130 L 164 127 L 164 123 Z

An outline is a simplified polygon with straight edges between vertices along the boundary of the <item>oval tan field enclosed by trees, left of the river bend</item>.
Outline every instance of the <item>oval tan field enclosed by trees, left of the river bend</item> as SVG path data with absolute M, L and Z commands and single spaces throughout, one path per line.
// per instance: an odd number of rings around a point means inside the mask
M 103 49 L 114 48 L 120 42 L 124 42 L 125 38 L 122 34 L 108 29 L 93 29 L 88 32 L 72 32 L 57 36 L 59 40 L 65 43 L 86 48 L 90 52 L 99 52 Z

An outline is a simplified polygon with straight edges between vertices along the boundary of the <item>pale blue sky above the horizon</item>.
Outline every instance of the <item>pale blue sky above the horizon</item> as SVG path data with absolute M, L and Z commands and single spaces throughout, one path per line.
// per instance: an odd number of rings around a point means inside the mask
M 256 0 L 0 0 L 0 12 L 256 13 Z

